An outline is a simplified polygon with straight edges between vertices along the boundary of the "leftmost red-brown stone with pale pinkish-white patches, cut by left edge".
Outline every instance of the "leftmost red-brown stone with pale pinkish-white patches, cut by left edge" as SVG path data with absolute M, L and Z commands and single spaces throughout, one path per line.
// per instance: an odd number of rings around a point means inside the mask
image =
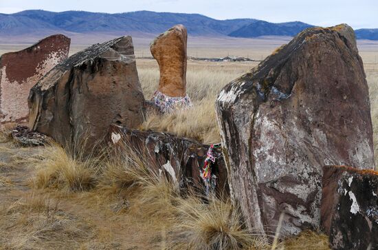
M 0 124 L 27 123 L 30 89 L 67 58 L 70 43 L 68 37 L 56 34 L 0 57 Z

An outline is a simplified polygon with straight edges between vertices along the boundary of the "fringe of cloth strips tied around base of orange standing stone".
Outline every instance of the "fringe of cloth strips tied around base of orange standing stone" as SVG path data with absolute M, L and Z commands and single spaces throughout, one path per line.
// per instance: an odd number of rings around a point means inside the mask
M 163 113 L 173 112 L 174 110 L 188 110 L 192 107 L 192 101 L 190 101 L 188 94 L 184 97 L 171 97 L 157 90 L 155 94 L 153 94 L 151 101 L 153 101 Z

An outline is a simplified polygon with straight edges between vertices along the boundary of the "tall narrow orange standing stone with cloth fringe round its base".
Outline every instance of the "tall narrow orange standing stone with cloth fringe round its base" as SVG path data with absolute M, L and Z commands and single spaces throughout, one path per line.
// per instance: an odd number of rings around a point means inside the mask
M 190 107 L 186 94 L 186 41 L 184 25 L 175 25 L 151 43 L 151 54 L 159 64 L 159 87 L 153 96 L 162 112 Z

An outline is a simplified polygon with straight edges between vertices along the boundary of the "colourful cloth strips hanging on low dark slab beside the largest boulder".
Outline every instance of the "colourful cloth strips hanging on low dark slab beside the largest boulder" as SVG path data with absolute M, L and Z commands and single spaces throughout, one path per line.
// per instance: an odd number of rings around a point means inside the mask
M 200 169 L 200 176 L 205 183 L 205 194 L 209 196 L 209 194 L 213 194 L 216 187 L 216 175 L 212 174 L 212 164 L 215 163 L 216 156 L 214 156 L 214 149 L 221 147 L 221 143 L 212 144 L 208 149 L 208 153 L 206 154 L 205 163 L 203 164 L 202 169 Z

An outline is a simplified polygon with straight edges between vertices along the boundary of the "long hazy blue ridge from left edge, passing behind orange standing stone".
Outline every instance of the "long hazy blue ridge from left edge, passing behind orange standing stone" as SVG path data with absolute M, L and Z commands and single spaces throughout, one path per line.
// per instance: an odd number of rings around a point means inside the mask
M 177 23 L 192 35 L 227 35 L 254 19 L 216 20 L 201 14 L 138 11 L 120 14 L 83 11 L 47 12 L 25 10 L 0 14 L 0 34 L 27 34 L 36 30 L 65 32 L 145 32 L 158 34 Z

